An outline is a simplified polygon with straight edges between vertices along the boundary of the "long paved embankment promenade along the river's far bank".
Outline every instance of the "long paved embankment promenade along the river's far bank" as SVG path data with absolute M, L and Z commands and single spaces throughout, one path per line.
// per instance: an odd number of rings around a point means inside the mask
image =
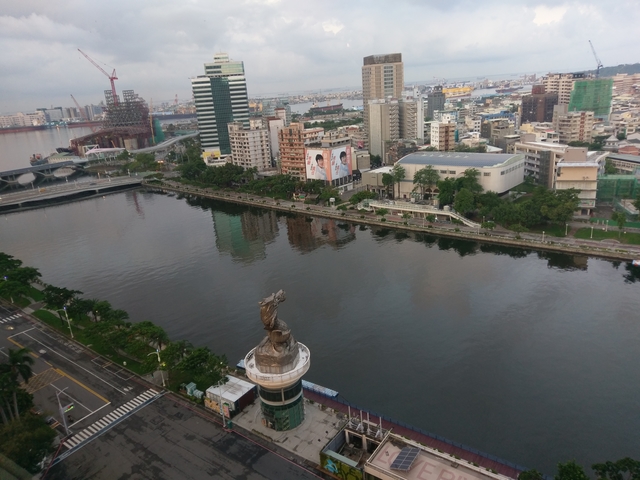
M 193 186 L 185 186 L 178 183 L 146 183 L 148 188 L 158 190 L 173 191 L 185 195 L 195 195 L 212 200 L 220 200 L 243 204 L 252 207 L 270 208 L 281 212 L 293 212 L 303 215 L 334 218 L 336 220 L 347 220 L 349 222 L 371 225 L 383 228 L 393 228 L 395 230 L 405 230 L 427 235 L 456 238 L 480 243 L 490 243 L 509 247 L 519 247 L 527 250 L 543 250 L 550 252 L 566 253 L 569 255 L 583 255 L 590 257 L 600 257 L 609 260 L 631 261 L 640 258 L 640 246 L 611 244 L 593 240 L 580 240 L 575 238 L 558 238 L 546 236 L 543 241 L 542 235 L 521 234 L 521 238 L 516 238 L 513 232 L 479 232 L 464 226 L 442 225 L 442 224 L 422 224 L 417 220 L 405 222 L 400 217 L 397 219 L 389 216 L 388 220 L 376 217 L 373 214 L 361 214 L 355 210 L 341 211 L 335 207 L 324 207 L 319 205 L 306 205 L 301 202 L 288 200 L 273 200 L 272 198 L 260 197 L 258 195 L 211 190 Z

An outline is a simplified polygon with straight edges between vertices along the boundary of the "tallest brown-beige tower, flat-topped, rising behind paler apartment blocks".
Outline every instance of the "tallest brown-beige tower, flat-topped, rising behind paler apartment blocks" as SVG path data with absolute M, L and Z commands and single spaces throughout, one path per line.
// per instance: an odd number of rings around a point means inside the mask
M 369 101 L 400 98 L 404 88 L 404 66 L 401 53 L 364 57 L 362 66 L 362 103 L 364 129 L 369 132 Z

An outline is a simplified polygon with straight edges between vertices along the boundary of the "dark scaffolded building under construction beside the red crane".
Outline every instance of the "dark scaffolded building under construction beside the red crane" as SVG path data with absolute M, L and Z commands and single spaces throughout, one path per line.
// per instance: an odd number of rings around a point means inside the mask
M 107 103 L 102 128 L 94 133 L 71 140 L 71 148 L 82 156 L 84 146 L 126 148 L 137 150 L 151 145 L 149 107 L 133 90 L 122 91 L 122 101 L 113 90 L 105 90 Z

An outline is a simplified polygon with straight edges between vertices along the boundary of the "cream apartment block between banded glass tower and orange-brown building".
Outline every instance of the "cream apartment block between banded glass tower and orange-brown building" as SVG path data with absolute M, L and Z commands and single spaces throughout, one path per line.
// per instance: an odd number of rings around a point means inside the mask
M 256 168 L 262 172 L 271 167 L 269 131 L 266 128 L 248 129 L 241 122 L 229 123 L 231 162 L 245 170 Z

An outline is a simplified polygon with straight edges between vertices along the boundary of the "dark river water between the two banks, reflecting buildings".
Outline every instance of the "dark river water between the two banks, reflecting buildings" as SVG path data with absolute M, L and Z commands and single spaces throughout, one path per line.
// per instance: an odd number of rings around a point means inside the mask
M 258 301 L 346 399 L 555 473 L 640 451 L 640 272 L 128 192 L 0 217 L 0 251 L 235 364 Z

